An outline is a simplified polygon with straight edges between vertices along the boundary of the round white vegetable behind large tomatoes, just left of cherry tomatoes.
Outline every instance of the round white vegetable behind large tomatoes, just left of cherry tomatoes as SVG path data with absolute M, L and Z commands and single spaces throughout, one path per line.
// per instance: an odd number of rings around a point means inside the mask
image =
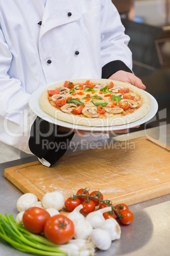
M 58 191 L 46 193 L 42 198 L 42 206 L 45 209 L 55 208 L 56 210 L 60 211 L 62 210 L 64 204 L 65 200 L 63 194 Z

